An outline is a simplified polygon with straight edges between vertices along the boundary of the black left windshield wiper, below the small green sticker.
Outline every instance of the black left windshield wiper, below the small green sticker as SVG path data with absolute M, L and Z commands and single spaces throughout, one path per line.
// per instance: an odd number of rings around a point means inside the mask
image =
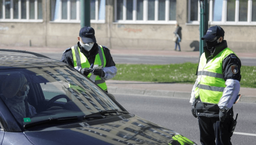
M 54 123 L 60 123 L 60 122 L 73 122 L 74 120 L 82 119 L 81 117 L 77 116 L 69 116 L 69 117 L 60 117 L 60 118 L 49 118 L 46 120 L 40 120 L 37 122 L 29 123 L 23 125 L 24 129 L 28 129 L 34 126 L 44 125 L 44 124 L 54 124 Z

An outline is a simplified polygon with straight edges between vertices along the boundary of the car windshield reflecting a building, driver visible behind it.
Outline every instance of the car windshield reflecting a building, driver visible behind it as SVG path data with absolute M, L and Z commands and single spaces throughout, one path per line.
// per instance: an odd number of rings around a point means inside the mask
M 24 127 L 58 118 L 88 119 L 84 116 L 107 110 L 125 111 L 69 66 L 1 70 L 0 77 L 1 99 Z

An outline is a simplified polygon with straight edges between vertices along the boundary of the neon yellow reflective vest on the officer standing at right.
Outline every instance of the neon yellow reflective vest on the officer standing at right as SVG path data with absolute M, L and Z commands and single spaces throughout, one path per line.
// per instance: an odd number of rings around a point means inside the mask
M 235 54 L 229 48 L 207 62 L 205 53 L 200 57 L 195 98 L 200 97 L 204 103 L 218 104 L 226 87 L 222 70 L 222 61 L 230 54 Z M 207 62 L 207 63 L 206 63 Z

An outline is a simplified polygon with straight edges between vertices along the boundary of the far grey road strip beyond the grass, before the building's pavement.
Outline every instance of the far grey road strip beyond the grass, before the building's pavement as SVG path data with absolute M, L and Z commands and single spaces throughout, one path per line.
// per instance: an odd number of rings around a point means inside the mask
M 41 53 L 49 58 L 61 60 L 61 53 Z M 192 62 L 198 63 L 199 57 L 180 57 L 180 56 L 132 56 L 132 55 L 112 55 L 115 63 L 129 64 L 174 64 Z M 256 66 L 256 58 L 240 58 L 244 66 Z

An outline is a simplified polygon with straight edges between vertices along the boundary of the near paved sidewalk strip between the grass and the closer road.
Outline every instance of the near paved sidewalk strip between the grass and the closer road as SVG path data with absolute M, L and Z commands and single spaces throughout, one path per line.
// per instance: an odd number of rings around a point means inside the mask
M 107 80 L 109 93 L 190 98 L 193 84 Z M 256 88 L 241 87 L 241 102 L 256 103 Z

